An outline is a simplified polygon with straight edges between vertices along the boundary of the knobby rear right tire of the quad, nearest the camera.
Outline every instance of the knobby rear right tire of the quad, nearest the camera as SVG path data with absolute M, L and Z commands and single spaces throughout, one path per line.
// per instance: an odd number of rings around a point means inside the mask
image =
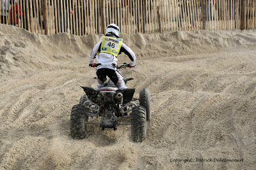
M 132 108 L 131 124 L 132 141 L 143 141 L 147 136 L 146 111 L 143 106 Z

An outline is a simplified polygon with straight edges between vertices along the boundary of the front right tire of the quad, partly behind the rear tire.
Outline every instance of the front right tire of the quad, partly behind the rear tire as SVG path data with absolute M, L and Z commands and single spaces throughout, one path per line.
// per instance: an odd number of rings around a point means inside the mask
M 140 106 L 146 109 L 147 120 L 150 120 L 150 92 L 147 89 L 140 90 Z

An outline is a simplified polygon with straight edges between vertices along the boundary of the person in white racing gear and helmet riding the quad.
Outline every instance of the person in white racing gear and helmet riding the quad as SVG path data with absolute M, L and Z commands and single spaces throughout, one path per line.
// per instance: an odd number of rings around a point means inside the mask
M 105 36 L 100 38 L 100 41 L 93 47 L 90 54 L 91 67 L 96 67 L 97 89 L 100 90 L 106 84 L 106 76 L 115 83 L 118 89 L 127 89 L 124 78 L 121 72 L 117 69 L 117 56 L 124 52 L 128 55 L 131 62 L 129 67 L 134 67 L 136 64 L 136 55 L 132 52 L 123 39 L 119 38 L 120 29 L 116 24 L 109 24 L 106 27 Z M 94 63 L 94 59 L 97 59 L 99 65 Z

